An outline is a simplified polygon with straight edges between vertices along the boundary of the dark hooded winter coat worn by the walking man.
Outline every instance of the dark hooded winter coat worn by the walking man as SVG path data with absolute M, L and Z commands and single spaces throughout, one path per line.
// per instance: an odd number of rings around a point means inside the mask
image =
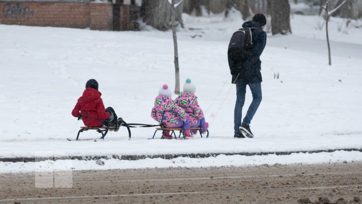
M 243 28 L 256 28 L 252 29 L 252 49 L 249 56 L 243 61 L 232 61 L 229 58 L 229 66 L 239 66 L 241 73 L 236 82 L 243 82 L 246 84 L 259 83 L 261 78 L 261 61 L 260 55 L 264 50 L 266 44 L 266 33 L 261 29 L 260 24 L 254 21 L 247 21 L 242 25 Z M 233 74 L 232 83 L 236 80 L 238 74 Z

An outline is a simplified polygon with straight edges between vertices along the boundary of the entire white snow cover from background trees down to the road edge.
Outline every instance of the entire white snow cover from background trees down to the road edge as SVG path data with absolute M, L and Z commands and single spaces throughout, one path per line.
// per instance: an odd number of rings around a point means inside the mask
M 210 137 L 148 140 L 154 128 L 126 128 L 75 139 L 81 121 L 70 112 L 85 82 L 96 79 L 105 106 L 128 123 L 156 124 L 150 117 L 162 84 L 174 89 L 172 33 L 0 25 L 0 158 L 92 155 L 259 153 L 362 149 L 362 24 L 332 18 L 332 66 L 328 65 L 323 19 L 291 17 L 292 35 L 272 36 L 261 55 L 263 99 L 250 127 L 253 139 L 233 138 L 235 85 L 227 64 L 238 14 L 195 18 L 184 15 L 177 31 L 181 87 L 191 78 L 209 122 Z M 274 79 L 279 73 L 280 79 Z M 172 95 L 172 98 L 175 98 Z M 251 102 L 248 90 L 246 106 Z M 246 112 L 244 108 L 243 113 Z M 160 137 L 160 135 L 156 135 Z M 289 156 L 224 156 L 140 161 L 63 161 L 60 169 L 146 168 L 341 162 L 362 160 L 358 151 Z M 0 172 L 36 170 L 38 163 L 0 162 Z M 56 163 L 56 162 L 55 162 Z M 107 165 L 108 164 L 108 165 Z M 45 165 L 46 166 L 46 165 Z M 44 165 L 43 165 L 44 167 Z M 69 167 L 70 168 L 70 167 Z

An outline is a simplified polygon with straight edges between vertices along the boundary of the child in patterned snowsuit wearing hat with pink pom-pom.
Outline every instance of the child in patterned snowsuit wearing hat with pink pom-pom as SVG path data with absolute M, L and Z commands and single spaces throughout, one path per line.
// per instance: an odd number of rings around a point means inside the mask
M 158 96 L 154 101 L 151 117 L 159 124 L 164 124 L 166 127 L 178 128 L 182 127 L 186 138 L 192 137 L 190 133 L 190 122 L 186 116 L 185 110 L 180 108 L 171 99 L 171 91 L 165 84 L 158 92 Z M 163 131 L 164 139 L 172 139 L 169 131 Z

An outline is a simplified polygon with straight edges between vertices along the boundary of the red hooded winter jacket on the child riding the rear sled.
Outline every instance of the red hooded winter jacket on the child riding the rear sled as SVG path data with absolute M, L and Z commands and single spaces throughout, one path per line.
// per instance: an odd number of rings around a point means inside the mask
M 72 115 L 78 117 L 80 110 L 84 125 L 88 127 L 99 127 L 105 119 L 110 117 L 110 113 L 106 112 L 102 101 L 102 93 L 96 89 L 86 88 L 83 95 L 78 99 Z

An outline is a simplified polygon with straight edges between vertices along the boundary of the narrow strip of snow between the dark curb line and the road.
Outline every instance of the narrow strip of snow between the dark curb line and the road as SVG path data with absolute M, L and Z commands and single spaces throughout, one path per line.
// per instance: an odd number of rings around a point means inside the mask
M 210 166 L 248 166 L 248 165 L 278 165 L 278 164 L 310 164 L 310 163 L 349 163 L 360 161 L 360 152 L 336 151 L 333 153 L 293 153 L 291 155 L 264 155 L 242 156 L 219 155 L 203 159 L 177 157 L 173 159 L 142 159 L 142 160 L 118 160 L 101 159 L 104 165 L 98 165 L 96 161 L 85 160 L 56 160 L 40 162 L 0 162 L 0 173 L 27 172 L 27 171 L 67 171 L 88 169 L 135 169 L 135 168 L 168 168 L 168 167 L 210 167 Z

